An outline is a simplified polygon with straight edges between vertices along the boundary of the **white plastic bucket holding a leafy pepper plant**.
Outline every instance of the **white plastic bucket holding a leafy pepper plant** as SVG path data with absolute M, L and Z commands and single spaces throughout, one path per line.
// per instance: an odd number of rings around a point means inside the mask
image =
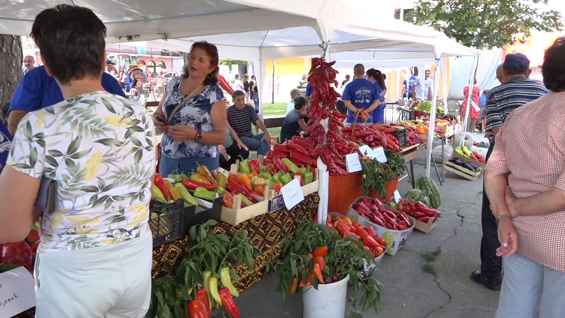
M 338 282 L 301 287 L 304 318 L 344 318 L 349 275 Z

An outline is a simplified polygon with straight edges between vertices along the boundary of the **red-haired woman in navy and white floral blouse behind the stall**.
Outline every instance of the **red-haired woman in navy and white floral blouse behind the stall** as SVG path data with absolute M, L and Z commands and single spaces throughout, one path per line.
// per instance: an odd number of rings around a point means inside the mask
M 190 49 L 184 74 L 171 79 L 153 114 L 165 132 L 161 141 L 159 174 L 196 171 L 220 166 L 218 145 L 225 143 L 225 97 L 218 86 L 218 49 L 205 41 Z M 188 97 L 188 99 L 186 99 Z

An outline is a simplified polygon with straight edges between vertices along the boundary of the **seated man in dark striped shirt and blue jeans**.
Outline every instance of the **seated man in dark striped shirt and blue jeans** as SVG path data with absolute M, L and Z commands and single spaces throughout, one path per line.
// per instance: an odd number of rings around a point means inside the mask
M 255 113 L 255 108 L 249 104 L 245 104 L 245 94 L 242 91 L 234 91 L 232 93 L 233 105 L 228 107 L 228 123 L 229 131 L 232 135 L 238 136 L 249 150 L 257 151 L 257 154 L 265 156 L 271 150 L 271 136 L 265 127 L 265 124 L 259 119 L 259 115 Z M 251 123 L 261 128 L 263 134 L 254 135 L 251 132 Z

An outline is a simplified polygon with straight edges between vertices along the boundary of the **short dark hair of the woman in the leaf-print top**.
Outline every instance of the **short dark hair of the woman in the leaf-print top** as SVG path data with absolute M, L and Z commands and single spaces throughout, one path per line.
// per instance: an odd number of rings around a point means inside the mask
M 106 27 L 89 8 L 58 5 L 45 9 L 36 16 L 30 36 L 60 84 L 102 76 Z

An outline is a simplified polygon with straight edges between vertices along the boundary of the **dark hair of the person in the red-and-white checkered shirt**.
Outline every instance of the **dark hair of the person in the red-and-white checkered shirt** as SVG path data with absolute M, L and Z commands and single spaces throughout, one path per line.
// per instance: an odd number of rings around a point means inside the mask
M 545 50 L 544 64 L 541 66 L 544 85 L 552 92 L 565 91 L 565 36 L 558 37 Z

